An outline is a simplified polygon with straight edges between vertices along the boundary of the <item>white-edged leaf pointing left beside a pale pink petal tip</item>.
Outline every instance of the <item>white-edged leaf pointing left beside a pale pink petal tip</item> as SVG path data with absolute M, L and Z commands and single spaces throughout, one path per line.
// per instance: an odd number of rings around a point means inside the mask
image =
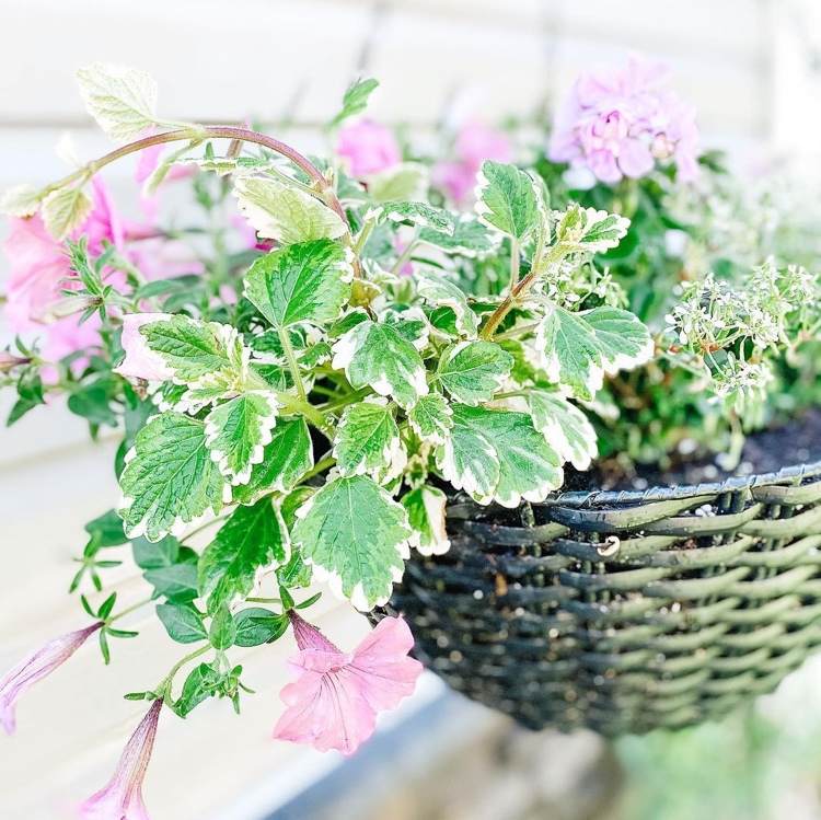
M 140 334 L 181 383 L 190 384 L 216 372 L 234 380 L 243 377 L 247 351 L 239 333 L 230 325 L 169 315 L 162 321 L 142 325 Z M 221 390 L 227 389 L 228 385 Z

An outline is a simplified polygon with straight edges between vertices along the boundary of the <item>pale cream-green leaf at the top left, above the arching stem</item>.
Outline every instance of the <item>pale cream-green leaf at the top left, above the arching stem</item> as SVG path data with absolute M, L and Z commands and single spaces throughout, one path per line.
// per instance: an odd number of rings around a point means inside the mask
M 77 79 L 85 108 L 112 139 L 125 142 L 157 123 L 157 83 L 144 71 L 94 62 Z

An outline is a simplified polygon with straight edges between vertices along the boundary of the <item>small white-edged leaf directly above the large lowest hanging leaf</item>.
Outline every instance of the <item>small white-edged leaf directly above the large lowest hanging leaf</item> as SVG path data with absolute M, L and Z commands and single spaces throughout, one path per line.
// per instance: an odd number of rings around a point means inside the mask
M 385 399 L 368 397 L 345 408 L 334 438 L 342 475 L 396 476 L 407 462 L 400 429 Z

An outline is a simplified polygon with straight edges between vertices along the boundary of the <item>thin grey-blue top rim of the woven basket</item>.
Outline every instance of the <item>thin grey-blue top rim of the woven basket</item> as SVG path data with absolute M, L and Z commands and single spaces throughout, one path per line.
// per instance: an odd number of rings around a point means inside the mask
M 774 484 L 800 484 L 807 478 L 821 476 L 821 460 L 805 464 L 793 464 L 771 473 L 752 473 L 751 475 L 729 476 L 716 482 L 699 484 L 656 485 L 647 489 L 574 489 L 551 493 L 543 501 L 531 503 L 532 507 L 592 507 L 599 505 L 621 506 L 644 504 L 648 501 L 673 501 L 698 496 L 715 496 L 742 489 L 753 489 Z M 463 494 L 451 501 L 451 508 L 462 507 L 465 503 L 476 505 Z M 486 507 L 484 508 L 486 509 Z

